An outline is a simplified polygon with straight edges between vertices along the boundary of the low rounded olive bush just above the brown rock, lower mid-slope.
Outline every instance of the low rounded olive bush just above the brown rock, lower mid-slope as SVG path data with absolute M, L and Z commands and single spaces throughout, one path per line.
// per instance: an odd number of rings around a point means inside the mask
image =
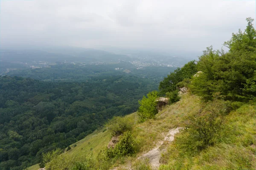
M 131 130 L 132 122 L 126 117 L 115 116 L 108 123 L 106 127 L 112 136 L 121 135 L 127 130 Z

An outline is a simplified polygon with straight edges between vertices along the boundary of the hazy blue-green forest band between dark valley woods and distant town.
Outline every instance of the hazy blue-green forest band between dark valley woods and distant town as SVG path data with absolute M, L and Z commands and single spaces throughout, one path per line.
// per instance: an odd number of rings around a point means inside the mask
M 120 68 L 120 70 L 115 70 Z M 125 69 L 130 70 L 131 75 L 140 78 L 150 78 L 151 81 L 159 83 L 163 77 L 175 70 L 175 67 L 147 66 L 137 69 L 136 66 L 128 62 L 100 64 L 100 65 L 74 65 L 57 64 L 49 68 L 41 69 L 17 69 L 7 73 L 9 76 L 22 76 L 44 81 L 90 81 L 94 77 L 108 77 L 113 75 L 126 75 Z

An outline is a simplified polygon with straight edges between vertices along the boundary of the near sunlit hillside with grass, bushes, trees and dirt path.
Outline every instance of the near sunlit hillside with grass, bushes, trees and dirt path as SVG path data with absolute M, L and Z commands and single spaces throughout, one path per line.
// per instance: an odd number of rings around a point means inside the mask
M 244 32 L 239 30 L 224 43 L 228 52 L 210 46 L 197 62 L 164 78 L 159 91 L 144 96 L 138 112 L 112 118 L 105 130 L 70 145 L 64 154 L 59 149 L 43 154 L 41 166 L 255 170 L 256 30 L 253 19 L 247 18 L 247 23 Z M 162 110 L 157 107 L 160 96 L 169 98 L 170 104 Z

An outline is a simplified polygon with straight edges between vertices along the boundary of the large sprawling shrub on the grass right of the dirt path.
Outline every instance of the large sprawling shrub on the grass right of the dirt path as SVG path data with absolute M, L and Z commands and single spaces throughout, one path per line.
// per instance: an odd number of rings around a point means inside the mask
M 188 117 L 182 134 L 175 143 L 183 154 L 196 155 L 202 149 L 216 144 L 221 138 L 224 116 L 230 112 L 230 102 L 208 102 L 199 114 Z

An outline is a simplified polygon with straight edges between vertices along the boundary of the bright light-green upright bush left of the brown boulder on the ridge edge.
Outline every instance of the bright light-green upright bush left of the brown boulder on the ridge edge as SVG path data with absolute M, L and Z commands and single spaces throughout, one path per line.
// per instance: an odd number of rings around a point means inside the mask
M 157 114 L 157 98 L 158 92 L 153 91 L 147 94 L 147 98 L 143 96 L 142 100 L 139 101 L 140 107 L 138 110 L 138 116 L 141 122 L 154 118 L 154 115 Z

